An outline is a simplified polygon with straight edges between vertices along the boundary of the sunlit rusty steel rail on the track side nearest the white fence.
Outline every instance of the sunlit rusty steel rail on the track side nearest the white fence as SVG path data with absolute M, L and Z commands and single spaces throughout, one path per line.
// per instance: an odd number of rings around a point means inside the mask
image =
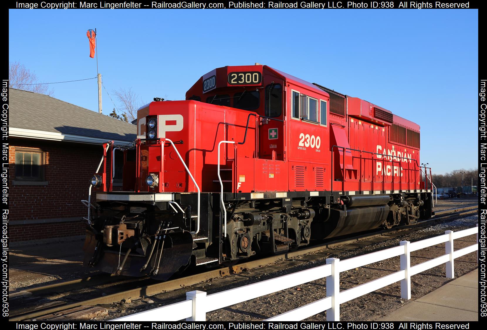
M 477 208 L 477 209 L 473 209 L 473 208 Z M 357 242 L 360 240 L 370 239 L 370 238 L 377 237 L 377 236 L 382 236 L 382 235 L 387 236 L 387 234 L 389 234 L 389 233 L 399 232 L 399 231 L 411 229 L 414 227 L 430 225 L 433 223 L 437 223 L 437 222 L 441 222 L 441 221 L 445 221 L 445 220 L 450 220 L 453 218 L 462 218 L 462 217 L 468 216 L 470 214 L 477 213 L 478 212 L 478 206 L 470 206 L 470 207 L 466 207 L 466 208 L 456 208 L 456 209 L 451 209 L 451 210 L 444 210 L 441 212 L 452 212 L 455 210 L 465 210 L 465 211 L 460 212 L 460 213 L 449 214 L 449 215 L 442 216 L 442 217 L 437 217 L 435 215 L 431 219 L 424 220 L 421 222 L 417 222 L 417 223 L 414 223 L 411 225 L 396 226 L 396 227 L 391 228 L 391 229 L 384 229 L 384 230 L 376 231 L 373 233 L 367 233 L 367 234 L 362 234 L 359 236 L 343 238 L 343 239 L 339 239 L 339 240 L 332 241 L 332 242 L 308 246 L 308 247 L 299 249 L 297 251 L 289 251 L 289 252 L 285 252 L 285 253 L 282 253 L 279 255 L 274 255 L 274 256 L 258 259 L 258 260 L 245 261 L 243 263 L 239 263 L 239 264 L 229 266 L 229 267 L 217 268 L 214 270 L 207 271 L 205 273 L 199 273 L 199 274 L 189 275 L 189 276 L 186 276 L 183 278 L 176 278 L 176 279 L 169 280 L 166 282 L 159 282 L 156 284 L 145 285 L 145 286 L 142 286 L 140 288 L 135 288 L 135 289 L 131 289 L 131 290 L 123 291 L 123 292 L 114 293 L 112 295 L 100 296 L 100 297 L 88 299 L 85 301 L 80 301 L 80 302 L 75 302 L 75 303 L 71 303 L 71 304 L 56 306 L 53 308 L 49 308 L 49 309 L 45 309 L 45 310 L 39 310 L 39 311 L 35 311 L 32 313 L 20 314 L 20 315 L 14 316 L 12 318 L 9 318 L 9 321 L 29 320 L 29 319 L 36 318 L 37 316 L 42 316 L 42 315 L 47 315 L 47 314 L 63 311 L 63 310 L 68 310 L 68 309 L 75 308 L 75 307 L 78 307 L 81 305 L 93 305 L 94 306 L 94 305 L 98 305 L 98 304 L 111 304 L 111 303 L 118 302 L 118 301 L 121 301 L 122 299 L 127 299 L 127 298 L 133 299 L 134 297 L 139 297 L 139 296 L 156 295 L 156 294 L 160 294 L 164 291 L 176 290 L 176 289 L 184 288 L 184 287 L 194 285 L 197 283 L 201 283 L 201 282 L 206 281 L 210 278 L 218 278 L 218 277 L 223 277 L 223 276 L 227 276 L 230 274 L 238 274 L 245 269 L 253 269 L 253 268 L 263 266 L 263 265 L 266 265 L 266 264 L 269 264 L 269 263 L 272 263 L 275 261 L 282 261 L 285 259 L 295 258 L 295 257 L 298 257 L 300 255 L 304 255 L 304 254 L 307 254 L 310 252 L 317 252 L 320 250 L 325 250 L 325 249 L 337 247 L 337 246 L 340 246 L 343 244 L 354 243 L 354 242 Z M 436 213 L 436 214 L 438 214 L 438 213 Z M 69 281 L 69 282 L 75 282 L 75 281 L 79 281 L 79 280 L 74 280 L 74 281 Z M 63 285 L 63 283 L 65 284 L 68 282 L 53 284 L 53 285 L 50 285 L 48 287 L 54 287 L 56 285 L 61 286 L 61 285 Z M 36 288 L 33 288 L 33 289 L 35 290 Z M 24 290 L 24 291 L 30 291 L 33 289 L 28 289 L 28 290 Z M 41 289 L 42 289 L 42 287 L 37 288 L 37 292 L 39 292 L 39 291 L 42 292 Z M 32 291 L 30 291 L 30 292 L 32 292 Z

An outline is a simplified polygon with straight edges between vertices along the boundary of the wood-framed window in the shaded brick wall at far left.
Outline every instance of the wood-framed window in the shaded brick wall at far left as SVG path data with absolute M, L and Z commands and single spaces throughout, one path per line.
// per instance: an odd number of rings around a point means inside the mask
M 44 181 L 44 152 L 16 148 L 15 179 L 19 181 Z

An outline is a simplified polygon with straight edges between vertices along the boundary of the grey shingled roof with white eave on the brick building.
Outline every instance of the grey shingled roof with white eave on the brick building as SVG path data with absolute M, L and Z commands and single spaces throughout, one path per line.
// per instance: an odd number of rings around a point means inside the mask
M 130 142 L 137 126 L 54 97 L 9 88 L 9 135 L 103 143 Z

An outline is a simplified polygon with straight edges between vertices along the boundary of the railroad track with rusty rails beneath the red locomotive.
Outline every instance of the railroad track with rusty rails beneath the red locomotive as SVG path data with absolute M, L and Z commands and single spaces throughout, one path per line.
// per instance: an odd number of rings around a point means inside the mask
M 61 302 L 59 304 L 55 304 L 55 306 L 47 304 L 45 309 L 39 308 L 35 311 L 30 310 L 25 312 L 22 311 L 16 312 L 14 310 L 13 311 L 14 316 L 10 317 L 9 321 L 32 320 L 42 315 L 48 315 L 48 314 L 53 314 L 58 312 L 59 314 L 62 314 L 62 311 L 68 311 L 71 309 L 79 308 L 79 306 L 95 306 L 99 304 L 111 304 L 113 302 L 118 302 L 123 299 L 156 295 L 165 291 L 176 290 L 182 287 L 194 285 L 206 281 L 210 278 L 218 278 L 230 274 L 238 274 L 246 269 L 252 269 L 259 266 L 267 265 L 275 261 L 291 259 L 307 253 L 317 252 L 319 250 L 324 250 L 324 249 L 330 249 L 333 247 L 337 247 L 339 245 L 370 239 L 376 236 L 387 235 L 393 232 L 408 230 L 414 227 L 428 226 L 438 222 L 445 222 L 456 218 L 462 218 L 470 214 L 477 213 L 477 211 L 478 211 L 478 206 L 469 206 L 465 208 L 442 210 L 442 211 L 435 212 L 435 216 L 433 218 L 412 225 L 398 226 L 392 229 L 384 229 L 380 231 L 375 231 L 373 233 L 366 233 L 354 237 L 342 238 L 332 242 L 326 242 L 326 243 L 321 243 L 313 246 L 308 246 L 299 249 L 297 251 L 290 251 L 290 252 L 282 253 L 279 255 L 273 255 L 258 260 L 244 261 L 242 263 L 233 266 L 217 268 L 204 273 L 187 275 L 182 278 L 176 278 L 166 282 L 153 283 L 154 281 L 150 280 L 149 278 L 124 278 L 120 276 L 117 277 L 117 276 L 110 276 L 110 275 L 94 275 L 89 278 L 80 278 L 71 281 L 65 281 L 65 282 L 55 283 L 51 285 L 41 286 L 37 288 L 26 289 L 24 290 L 24 292 L 39 295 L 39 294 L 46 294 L 50 292 L 59 292 L 63 290 L 66 291 L 75 290 L 77 288 L 85 288 L 87 286 L 96 286 L 96 285 L 110 284 L 115 282 L 133 283 L 133 282 L 139 282 L 141 280 L 148 281 L 147 285 L 141 285 L 130 290 L 124 290 L 121 292 L 113 293 L 111 295 L 98 296 L 84 301 L 79 301 L 74 303 Z M 16 294 L 18 292 L 19 291 L 13 291 L 9 293 L 9 295 Z

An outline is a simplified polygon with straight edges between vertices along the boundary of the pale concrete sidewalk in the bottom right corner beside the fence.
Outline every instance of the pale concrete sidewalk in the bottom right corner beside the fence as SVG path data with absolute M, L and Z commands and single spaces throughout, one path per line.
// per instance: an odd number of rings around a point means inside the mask
M 478 268 L 377 321 L 478 321 Z

